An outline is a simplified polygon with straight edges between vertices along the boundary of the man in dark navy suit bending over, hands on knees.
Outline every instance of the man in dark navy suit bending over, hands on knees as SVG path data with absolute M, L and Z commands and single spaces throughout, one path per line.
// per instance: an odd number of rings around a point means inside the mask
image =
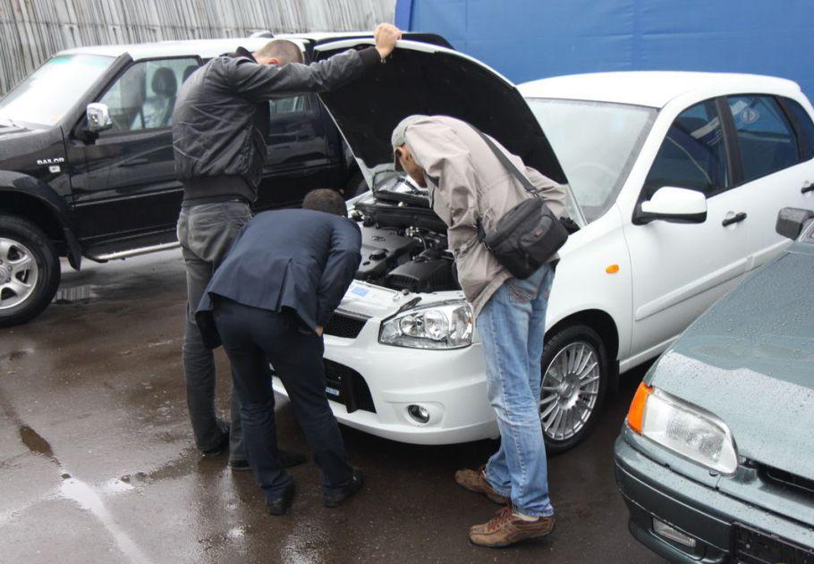
M 333 190 L 310 192 L 302 207 L 259 214 L 243 228 L 197 315 L 204 341 L 222 342 L 232 363 L 246 457 L 273 515 L 288 509 L 294 484 L 277 453 L 269 362 L 322 469 L 326 507 L 364 479 L 348 464 L 322 361 L 322 328 L 359 268 L 361 233 Z

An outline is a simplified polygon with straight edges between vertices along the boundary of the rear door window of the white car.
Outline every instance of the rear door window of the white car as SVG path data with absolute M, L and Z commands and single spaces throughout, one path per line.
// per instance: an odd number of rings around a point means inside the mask
M 771 96 L 731 96 L 743 181 L 753 181 L 800 162 L 797 138 L 783 110 Z

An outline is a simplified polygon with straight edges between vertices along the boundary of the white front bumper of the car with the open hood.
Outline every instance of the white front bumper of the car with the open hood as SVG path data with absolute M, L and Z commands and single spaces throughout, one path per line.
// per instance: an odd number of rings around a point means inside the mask
M 327 397 L 336 419 L 369 434 L 413 444 L 454 444 L 498 436 L 495 411 L 488 404 L 479 343 L 466 349 L 423 350 L 382 345 L 378 323 L 370 320 L 354 339 L 326 335 L 325 358 L 363 378 L 375 412 Z M 287 397 L 278 378 L 274 390 Z M 330 385 L 329 385 L 330 387 Z M 426 408 L 420 424 L 408 407 Z

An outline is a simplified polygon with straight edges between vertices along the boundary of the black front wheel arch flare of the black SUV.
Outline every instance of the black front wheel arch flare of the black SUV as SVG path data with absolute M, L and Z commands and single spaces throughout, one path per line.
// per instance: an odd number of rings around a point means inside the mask
M 64 198 L 42 181 L 21 173 L 0 171 L 0 213 L 7 212 L 35 223 L 55 242 L 60 255 L 73 268 L 81 267 L 81 246 L 73 231 Z

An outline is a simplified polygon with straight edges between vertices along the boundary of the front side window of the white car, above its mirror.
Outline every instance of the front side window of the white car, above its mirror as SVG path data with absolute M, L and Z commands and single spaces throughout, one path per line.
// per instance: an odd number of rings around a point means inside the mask
M 645 180 L 643 198 L 664 186 L 695 189 L 708 197 L 730 186 L 724 132 L 714 100 L 687 108 L 667 130 Z

